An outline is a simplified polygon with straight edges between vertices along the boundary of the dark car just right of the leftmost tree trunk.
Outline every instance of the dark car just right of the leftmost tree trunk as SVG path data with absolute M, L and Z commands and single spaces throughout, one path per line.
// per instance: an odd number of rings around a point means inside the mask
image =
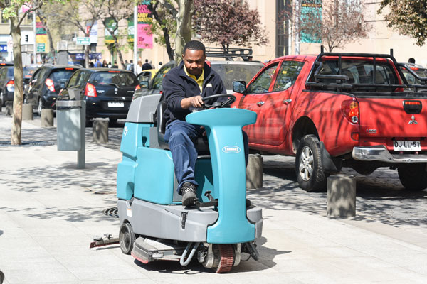
M 33 104 L 39 115 L 41 109 L 56 109 L 56 99 L 60 90 L 78 69 L 80 67 L 68 65 L 44 65 L 38 68 L 33 73 L 25 92 L 26 103 Z

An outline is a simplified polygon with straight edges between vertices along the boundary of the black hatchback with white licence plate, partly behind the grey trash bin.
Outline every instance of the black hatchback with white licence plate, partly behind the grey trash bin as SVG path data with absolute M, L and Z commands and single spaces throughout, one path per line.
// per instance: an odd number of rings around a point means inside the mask
M 138 81 L 127 70 L 80 69 L 70 77 L 58 99 L 73 99 L 80 94 L 86 101 L 86 121 L 109 118 L 111 123 L 125 119 Z

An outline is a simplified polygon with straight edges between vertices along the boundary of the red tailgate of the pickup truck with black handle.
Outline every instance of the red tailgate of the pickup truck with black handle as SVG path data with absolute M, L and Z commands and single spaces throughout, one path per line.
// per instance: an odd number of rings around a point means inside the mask
M 427 99 L 358 97 L 357 101 L 361 137 L 427 137 Z

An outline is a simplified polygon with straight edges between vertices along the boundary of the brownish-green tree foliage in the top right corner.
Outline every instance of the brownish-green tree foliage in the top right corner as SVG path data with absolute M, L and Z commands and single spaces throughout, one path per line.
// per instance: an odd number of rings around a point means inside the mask
M 382 13 L 386 6 L 390 9 L 389 14 L 385 16 L 387 26 L 396 29 L 401 35 L 414 38 L 418 46 L 426 43 L 426 0 L 383 0 L 378 13 Z

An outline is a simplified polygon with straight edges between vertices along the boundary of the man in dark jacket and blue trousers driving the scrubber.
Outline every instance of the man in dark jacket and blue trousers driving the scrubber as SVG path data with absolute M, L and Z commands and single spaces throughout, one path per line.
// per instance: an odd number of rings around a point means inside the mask
M 203 43 L 191 40 L 184 46 L 181 64 L 170 70 L 163 79 L 162 99 L 167 103 L 163 117 L 167 121 L 164 139 L 172 152 L 178 192 L 182 195 L 184 206 L 196 201 L 198 184 L 194 179 L 194 166 L 197 151 L 193 141 L 204 135 L 201 126 L 187 123 L 185 117 L 192 110 L 203 107 L 203 97 L 226 94 L 221 77 L 205 64 L 205 59 L 206 49 Z M 247 154 L 246 133 L 243 133 L 243 141 Z

